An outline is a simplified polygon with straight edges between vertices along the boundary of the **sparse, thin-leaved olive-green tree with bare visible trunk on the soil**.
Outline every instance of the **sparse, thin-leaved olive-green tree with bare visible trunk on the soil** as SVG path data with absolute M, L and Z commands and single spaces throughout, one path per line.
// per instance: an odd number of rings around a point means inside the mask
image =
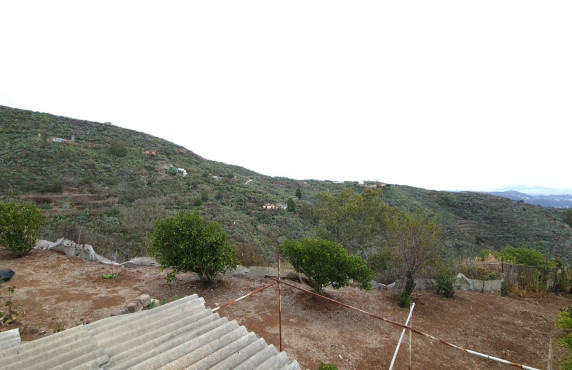
M 430 261 L 435 260 L 442 241 L 442 230 L 435 218 L 423 214 L 398 212 L 389 222 L 389 241 L 399 256 L 404 269 L 405 291 L 413 292 L 415 275 Z

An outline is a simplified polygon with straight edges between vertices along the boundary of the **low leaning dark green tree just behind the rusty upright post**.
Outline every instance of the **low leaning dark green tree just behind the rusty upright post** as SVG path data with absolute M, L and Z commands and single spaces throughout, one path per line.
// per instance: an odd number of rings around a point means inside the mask
M 360 288 L 371 289 L 373 272 L 358 256 L 350 256 L 341 245 L 323 239 L 306 238 L 302 241 L 287 240 L 278 250 L 288 258 L 296 271 L 310 279 L 316 292 L 326 285 L 340 289 L 353 279 Z

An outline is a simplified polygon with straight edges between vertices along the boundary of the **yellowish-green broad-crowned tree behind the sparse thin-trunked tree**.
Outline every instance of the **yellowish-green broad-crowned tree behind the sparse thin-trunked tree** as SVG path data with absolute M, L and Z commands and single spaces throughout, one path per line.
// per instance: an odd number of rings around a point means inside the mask
M 337 197 L 317 195 L 318 236 L 340 243 L 349 252 L 367 252 L 384 243 L 386 224 L 392 208 L 381 199 L 380 190 L 365 189 L 358 194 L 343 189 Z

